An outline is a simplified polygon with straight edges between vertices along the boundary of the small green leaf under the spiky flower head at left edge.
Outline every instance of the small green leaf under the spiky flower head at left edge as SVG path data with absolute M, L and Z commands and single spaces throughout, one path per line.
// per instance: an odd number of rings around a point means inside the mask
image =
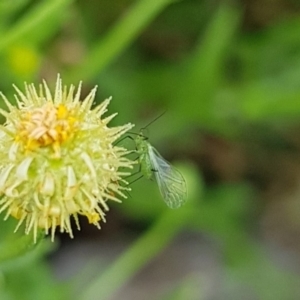
M 0 245 L 0 264 L 27 253 L 36 247 L 44 237 L 44 231 L 40 231 L 37 234 L 36 243 L 33 242 L 32 234 L 4 241 Z

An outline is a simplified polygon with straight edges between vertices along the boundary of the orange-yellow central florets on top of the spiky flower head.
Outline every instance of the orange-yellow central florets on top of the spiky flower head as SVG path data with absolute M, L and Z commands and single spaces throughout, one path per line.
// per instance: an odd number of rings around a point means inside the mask
M 60 157 L 61 144 L 74 136 L 77 127 L 77 119 L 64 104 L 46 103 L 21 114 L 16 140 L 23 142 L 26 151 L 51 146 Z

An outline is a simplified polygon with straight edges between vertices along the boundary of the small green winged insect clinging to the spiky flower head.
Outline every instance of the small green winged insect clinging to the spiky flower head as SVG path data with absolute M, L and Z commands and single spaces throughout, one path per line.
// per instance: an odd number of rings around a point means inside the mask
M 135 138 L 142 174 L 151 179 L 153 176 L 159 191 L 170 208 L 178 208 L 185 203 L 187 188 L 183 176 L 157 150 L 147 142 L 140 132 Z M 153 175 L 154 174 L 154 175 Z

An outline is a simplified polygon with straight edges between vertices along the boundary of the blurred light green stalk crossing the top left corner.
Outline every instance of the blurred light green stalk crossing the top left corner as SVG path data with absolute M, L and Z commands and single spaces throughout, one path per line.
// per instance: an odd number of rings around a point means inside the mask
M 73 0 L 42 1 L 17 22 L 6 34 L 0 38 L 0 53 L 16 41 L 30 35 L 35 30 L 43 30 L 43 23 L 55 14 L 64 11 L 65 6 Z

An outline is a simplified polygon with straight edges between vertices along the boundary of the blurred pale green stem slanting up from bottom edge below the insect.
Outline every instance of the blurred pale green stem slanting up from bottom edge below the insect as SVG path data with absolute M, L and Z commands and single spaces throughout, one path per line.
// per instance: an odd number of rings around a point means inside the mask
M 79 299 L 110 299 L 138 270 L 162 251 L 190 219 L 184 208 L 167 211 L 109 269 L 96 278 Z

